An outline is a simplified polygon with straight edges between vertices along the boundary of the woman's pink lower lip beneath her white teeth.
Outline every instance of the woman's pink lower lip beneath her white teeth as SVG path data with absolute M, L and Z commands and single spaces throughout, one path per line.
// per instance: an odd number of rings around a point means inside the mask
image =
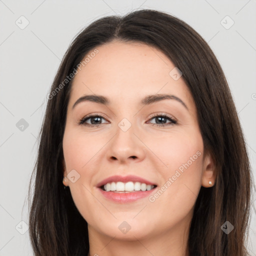
M 129 192 L 129 193 L 116 193 L 112 191 L 105 191 L 101 188 L 98 188 L 103 196 L 105 196 L 107 199 L 118 202 L 118 203 L 126 203 L 126 202 L 133 202 L 138 199 L 144 198 L 146 196 L 149 196 L 152 191 L 154 191 L 156 187 L 154 187 L 151 190 L 146 191 L 135 191 L 135 192 Z

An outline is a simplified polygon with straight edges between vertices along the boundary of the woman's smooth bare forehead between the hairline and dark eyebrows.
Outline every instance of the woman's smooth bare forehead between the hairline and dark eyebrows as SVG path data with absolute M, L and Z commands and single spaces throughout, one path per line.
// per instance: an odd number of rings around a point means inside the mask
M 172 61 L 160 50 L 140 42 L 114 41 L 88 52 L 86 64 L 77 69 L 72 81 L 71 103 L 83 94 L 101 94 L 115 100 L 140 100 L 144 95 L 171 93 L 192 97 L 182 79 L 174 80 Z M 96 54 L 91 54 L 97 52 Z

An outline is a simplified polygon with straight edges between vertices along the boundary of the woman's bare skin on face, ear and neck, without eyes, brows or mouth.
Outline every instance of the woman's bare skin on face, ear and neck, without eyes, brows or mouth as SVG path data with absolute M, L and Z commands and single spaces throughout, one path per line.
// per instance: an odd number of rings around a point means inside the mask
M 97 49 L 73 79 L 63 136 L 63 175 L 72 169 L 80 175 L 75 182 L 66 178 L 63 184 L 70 187 L 75 205 L 88 223 L 89 255 L 186 255 L 199 189 L 214 185 L 215 180 L 212 158 L 203 151 L 193 98 L 182 76 L 174 80 L 169 75 L 174 64 L 158 49 L 120 41 Z M 173 94 L 188 109 L 174 99 L 140 105 L 144 96 L 156 93 Z M 83 101 L 72 109 L 84 94 L 103 95 L 110 104 Z M 78 124 L 90 113 L 103 116 L 98 127 Z M 156 126 L 160 122 L 151 117 L 154 113 L 165 113 L 177 122 L 164 119 L 165 126 Z M 118 126 L 123 118 L 131 123 L 125 132 Z M 116 203 L 96 188 L 111 175 L 133 174 L 152 181 L 158 189 L 198 151 L 200 156 L 179 171 L 153 202 L 145 197 Z M 123 221 L 131 226 L 127 233 L 118 228 Z

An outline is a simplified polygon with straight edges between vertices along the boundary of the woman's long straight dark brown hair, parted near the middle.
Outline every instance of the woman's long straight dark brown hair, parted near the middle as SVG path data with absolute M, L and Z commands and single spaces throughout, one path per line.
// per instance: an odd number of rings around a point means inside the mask
M 142 9 L 92 22 L 72 41 L 57 70 L 40 130 L 29 203 L 29 235 L 34 255 L 87 255 L 87 223 L 64 189 L 62 138 L 71 82 L 85 54 L 113 40 L 138 41 L 161 50 L 178 67 L 197 108 L 204 148 L 215 162 L 216 180 L 201 187 L 189 229 L 191 256 L 244 256 L 251 205 L 251 171 L 232 96 L 219 62 L 188 24 L 165 12 Z M 62 86 L 59 86 L 62 83 Z M 57 89 L 58 88 L 58 89 Z M 60 88 L 60 89 L 59 89 Z M 54 95 L 53 95 L 54 94 Z M 29 199 L 30 201 L 31 199 Z M 226 234 L 221 225 L 234 229 Z

